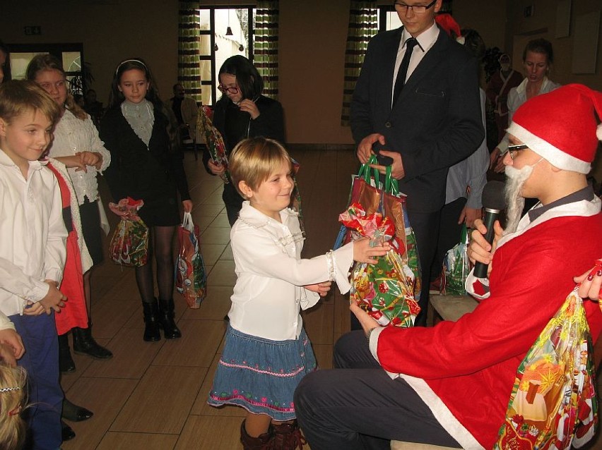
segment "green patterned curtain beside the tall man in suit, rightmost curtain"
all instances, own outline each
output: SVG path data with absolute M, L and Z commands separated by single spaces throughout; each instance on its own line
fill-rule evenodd
M 341 125 L 349 125 L 349 109 L 355 83 L 360 76 L 368 41 L 377 34 L 378 8 L 375 0 L 351 0 L 349 8 L 349 28 L 345 51 L 345 84 L 343 87 L 343 108 Z

